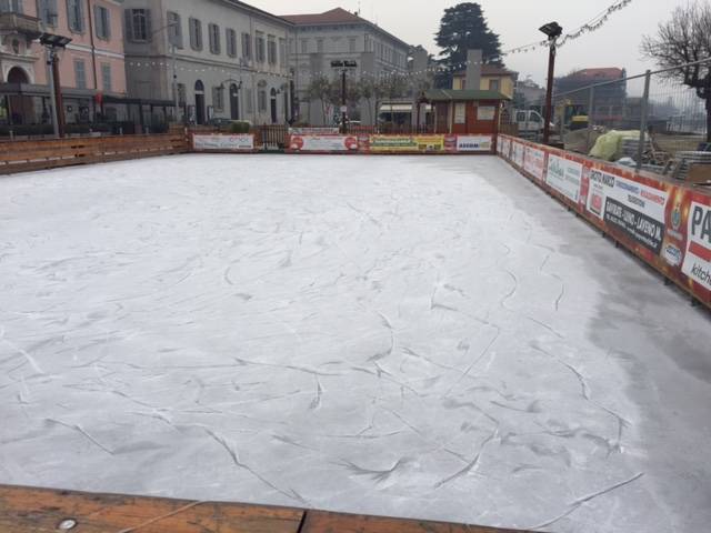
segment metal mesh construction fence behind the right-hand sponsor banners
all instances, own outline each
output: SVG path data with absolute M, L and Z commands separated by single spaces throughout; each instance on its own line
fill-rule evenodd
M 683 167 L 684 158 L 699 159 L 700 152 L 711 151 L 707 104 L 680 76 L 681 68 L 697 64 L 707 70 L 711 60 L 598 83 L 580 82 L 581 87 L 554 93 L 551 143 L 585 154 L 592 151 L 597 157 L 603 153 L 603 159 L 660 173 Z M 545 110 L 540 103 L 510 110 L 502 130 L 542 141 Z M 599 143 L 612 130 L 625 132 L 618 135 L 614 150 L 608 142 L 610 135 Z M 600 148 L 603 142 L 608 142 L 604 150 Z

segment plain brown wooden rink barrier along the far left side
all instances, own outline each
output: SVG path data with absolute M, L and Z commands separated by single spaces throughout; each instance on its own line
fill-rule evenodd
M 0 174 L 189 152 L 182 132 L 0 143 Z

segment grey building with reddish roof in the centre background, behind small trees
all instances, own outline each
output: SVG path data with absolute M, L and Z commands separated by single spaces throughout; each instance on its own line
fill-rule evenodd
M 312 82 L 334 80 L 341 71 L 333 61 L 354 61 L 348 82 L 382 80 L 389 74 L 408 72 L 412 48 L 379 26 L 336 8 L 323 13 L 287 14 L 282 19 L 293 24 L 288 50 L 294 72 L 298 99 L 298 120 L 311 124 L 332 123 L 340 111 L 340 102 L 323 102 L 313 93 Z M 338 99 L 336 99 L 338 100 Z M 348 103 L 348 114 L 363 123 L 374 123 L 379 103 L 374 98 L 360 98 Z

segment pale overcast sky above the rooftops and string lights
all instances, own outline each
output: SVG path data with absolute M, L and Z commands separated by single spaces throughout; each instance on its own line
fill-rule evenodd
M 322 12 L 336 7 L 349 11 L 361 7 L 361 16 L 411 44 L 422 44 L 439 52 L 434 33 L 445 8 L 460 3 L 445 0 L 247 0 L 276 14 Z M 558 56 L 558 74 L 577 68 L 620 67 L 630 74 L 640 73 L 653 63 L 640 53 L 643 34 L 653 33 L 657 24 L 667 20 L 677 6 L 688 0 L 633 0 L 622 11 L 610 17 L 594 33 L 569 42 Z M 605 10 L 614 0 L 480 0 L 489 27 L 501 36 L 503 50 L 529 44 L 543 37 L 538 28 L 557 20 L 565 30 L 579 28 Z M 544 38 L 544 37 L 543 37 Z M 505 63 L 542 83 L 548 56 L 544 50 L 508 56 Z

